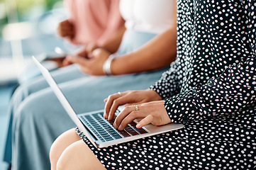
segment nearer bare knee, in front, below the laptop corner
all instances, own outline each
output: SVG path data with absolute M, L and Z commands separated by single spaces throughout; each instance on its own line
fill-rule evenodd
M 104 166 L 99 162 L 91 149 L 80 140 L 69 145 L 57 162 L 58 170 L 69 170 L 69 169 L 105 169 Z M 106 170 L 106 169 L 105 169 Z

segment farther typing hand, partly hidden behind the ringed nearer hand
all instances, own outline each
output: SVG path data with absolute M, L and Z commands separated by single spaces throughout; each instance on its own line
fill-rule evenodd
M 152 90 L 125 91 L 123 93 L 112 94 L 104 100 L 106 102 L 104 118 L 112 120 L 118 106 L 127 104 L 126 107 L 128 107 L 135 104 L 138 105 L 140 103 L 160 100 L 162 100 L 162 98 L 159 94 Z

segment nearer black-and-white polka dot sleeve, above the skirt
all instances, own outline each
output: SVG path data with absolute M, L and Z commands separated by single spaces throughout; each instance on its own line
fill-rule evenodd
M 237 113 L 256 106 L 255 56 L 230 66 L 218 79 L 165 100 L 172 122 L 189 123 L 223 113 Z

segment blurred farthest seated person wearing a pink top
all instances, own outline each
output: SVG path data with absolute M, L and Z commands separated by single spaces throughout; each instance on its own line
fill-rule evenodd
M 69 13 L 69 19 L 59 23 L 57 33 L 60 37 L 69 40 L 72 48 L 81 45 L 87 47 L 90 52 L 98 46 L 104 45 L 123 28 L 123 18 L 118 10 L 119 0 L 91 1 L 91 0 L 65 0 L 65 7 Z M 53 47 L 54 48 L 54 47 Z M 66 53 L 66 52 L 65 52 Z M 42 54 L 38 60 L 49 70 L 66 66 L 63 52 L 58 54 Z M 18 75 L 18 83 L 35 79 L 40 75 L 33 61 L 26 63 Z

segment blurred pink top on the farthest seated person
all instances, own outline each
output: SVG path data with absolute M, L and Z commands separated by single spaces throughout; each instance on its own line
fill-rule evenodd
M 65 0 L 69 21 L 74 24 L 74 44 L 101 45 L 123 26 L 119 0 Z

